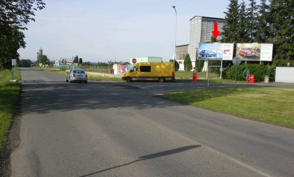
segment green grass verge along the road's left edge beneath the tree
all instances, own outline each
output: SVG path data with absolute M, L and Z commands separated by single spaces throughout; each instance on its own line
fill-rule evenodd
M 0 148 L 7 141 L 11 118 L 19 98 L 20 82 L 11 82 L 11 71 L 0 71 Z M 14 79 L 20 80 L 19 69 L 14 71 Z

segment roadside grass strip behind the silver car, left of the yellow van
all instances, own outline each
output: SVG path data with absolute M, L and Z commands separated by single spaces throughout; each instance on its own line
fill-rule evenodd
M 47 72 L 59 74 L 64 77 L 67 72 L 67 71 L 56 71 L 55 69 L 43 68 L 43 67 L 34 67 L 34 68 L 37 68 L 41 71 L 47 71 Z M 105 76 L 96 76 L 96 75 L 88 74 L 88 81 L 123 81 L 123 80 L 121 79 L 121 77 L 105 77 Z

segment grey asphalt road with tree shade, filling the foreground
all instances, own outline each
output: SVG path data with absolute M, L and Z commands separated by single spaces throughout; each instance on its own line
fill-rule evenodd
M 294 130 L 150 96 L 182 83 L 70 84 L 32 68 L 21 78 L 11 176 L 294 175 Z

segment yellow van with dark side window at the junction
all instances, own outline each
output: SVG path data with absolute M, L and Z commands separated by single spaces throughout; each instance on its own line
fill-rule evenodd
M 132 69 L 121 75 L 121 79 L 131 81 L 174 80 L 173 62 L 146 62 L 134 64 Z

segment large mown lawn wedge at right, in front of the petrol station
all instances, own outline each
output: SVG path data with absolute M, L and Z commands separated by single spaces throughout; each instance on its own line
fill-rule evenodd
M 226 87 L 166 93 L 163 98 L 294 128 L 294 88 Z

